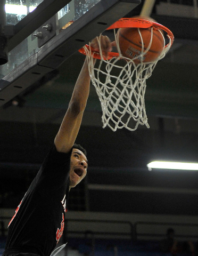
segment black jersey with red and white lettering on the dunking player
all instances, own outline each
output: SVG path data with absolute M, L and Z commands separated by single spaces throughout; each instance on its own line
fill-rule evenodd
M 48 153 L 9 223 L 4 254 L 48 256 L 59 242 L 69 194 L 71 151 L 59 153 L 53 146 Z

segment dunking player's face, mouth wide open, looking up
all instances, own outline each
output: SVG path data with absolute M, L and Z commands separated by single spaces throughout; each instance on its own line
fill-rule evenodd
M 79 149 L 73 148 L 70 163 L 70 188 L 75 187 L 87 174 L 87 157 Z

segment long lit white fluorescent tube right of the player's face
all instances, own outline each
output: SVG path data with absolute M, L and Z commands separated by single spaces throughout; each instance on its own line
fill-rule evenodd
M 174 169 L 174 170 L 193 170 L 198 171 L 198 163 L 180 163 L 180 162 L 163 162 L 154 161 L 147 164 L 147 167 L 151 171 L 156 169 Z

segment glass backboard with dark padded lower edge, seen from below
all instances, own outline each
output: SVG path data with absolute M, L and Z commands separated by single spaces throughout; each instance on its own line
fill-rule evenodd
M 0 106 L 58 68 L 141 0 L 6 0 L 9 61 L 0 66 Z M 70 25 L 70 26 L 69 26 Z

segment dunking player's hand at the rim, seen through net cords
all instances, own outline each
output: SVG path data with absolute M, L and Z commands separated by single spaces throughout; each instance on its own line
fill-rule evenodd
M 94 38 L 92 40 L 92 42 L 90 42 L 90 46 L 92 46 L 96 52 L 100 51 L 98 41 L 100 42 L 103 56 L 105 58 L 108 58 L 109 52 L 112 51 L 112 47 L 114 46 L 114 42 L 111 42 L 108 36 L 101 35 L 101 36 Z

